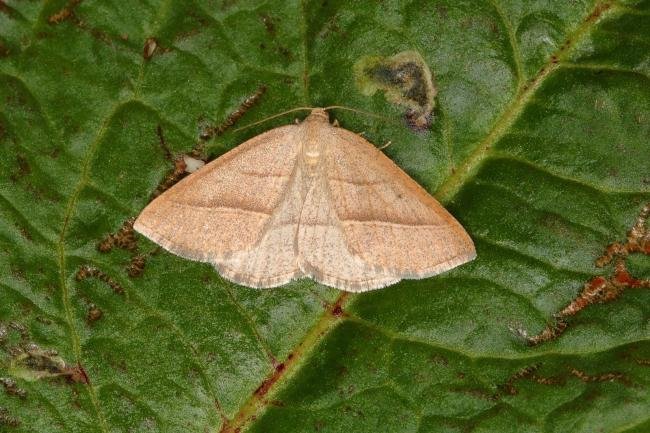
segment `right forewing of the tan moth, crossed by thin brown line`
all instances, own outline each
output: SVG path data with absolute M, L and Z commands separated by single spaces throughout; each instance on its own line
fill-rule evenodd
M 332 128 L 325 172 L 353 254 L 398 279 L 439 274 L 476 257 L 465 229 L 364 138 Z

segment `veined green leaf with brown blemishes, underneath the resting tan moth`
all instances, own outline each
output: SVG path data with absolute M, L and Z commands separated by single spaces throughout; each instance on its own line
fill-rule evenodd
M 361 58 L 403 51 L 438 89 L 426 133 L 355 84 Z M 650 291 L 534 348 L 510 330 L 612 274 L 596 258 L 650 201 L 649 84 L 648 1 L 0 2 L 0 430 L 649 431 Z M 333 113 L 392 141 L 478 258 L 347 296 L 165 252 L 131 278 L 130 252 L 99 252 L 172 169 L 157 128 L 188 152 L 260 85 L 241 125 L 333 104 L 397 120 Z M 628 267 L 650 277 L 643 254 Z

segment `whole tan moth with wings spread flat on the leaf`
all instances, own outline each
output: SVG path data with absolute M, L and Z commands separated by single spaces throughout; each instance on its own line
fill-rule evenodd
M 449 212 L 372 143 L 331 124 L 322 108 L 186 177 L 133 227 L 256 288 L 309 277 L 362 292 L 476 257 Z

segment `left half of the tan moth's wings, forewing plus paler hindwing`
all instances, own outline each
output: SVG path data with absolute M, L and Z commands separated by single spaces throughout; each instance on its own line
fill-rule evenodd
M 302 207 L 297 131 L 272 129 L 207 164 L 151 202 L 134 228 L 237 283 L 290 281 L 300 273 L 293 242 Z

